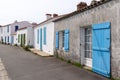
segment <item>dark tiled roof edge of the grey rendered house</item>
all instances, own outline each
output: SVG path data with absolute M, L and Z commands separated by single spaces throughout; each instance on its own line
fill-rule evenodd
M 80 9 L 80 10 L 77 10 L 77 11 L 74 11 L 74 12 L 72 12 L 72 13 L 69 13 L 69 14 L 66 15 L 66 16 L 63 16 L 63 17 L 61 17 L 61 18 L 59 18 L 59 19 L 54 20 L 54 22 L 60 21 L 60 20 L 62 20 L 62 19 L 65 19 L 65 18 L 68 18 L 68 17 L 71 17 L 71 16 L 74 16 L 74 15 L 76 15 L 76 14 L 82 13 L 82 12 L 87 11 L 87 10 L 90 10 L 90 9 L 92 9 L 92 8 L 95 8 L 95 7 L 97 7 L 97 6 L 100 6 L 100 5 L 102 5 L 102 4 L 105 4 L 105 3 L 109 2 L 109 1 L 113 1 L 113 0 L 101 0 L 101 1 L 97 1 L 95 4 L 86 6 L 86 7 L 82 8 L 82 9 Z

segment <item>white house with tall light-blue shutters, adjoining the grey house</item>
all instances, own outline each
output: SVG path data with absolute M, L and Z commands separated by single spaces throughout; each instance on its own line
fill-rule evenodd
M 54 54 L 54 20 L 60 18 L 57 14 L 46 14 L 47 20 L 34 27 L 34 47 L 43 52 Z

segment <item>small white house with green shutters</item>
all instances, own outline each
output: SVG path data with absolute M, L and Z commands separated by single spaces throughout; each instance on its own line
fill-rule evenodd
M 33 27 L 23 27 L 17 31 L 17 45 L 34 46 L 34 32 Z

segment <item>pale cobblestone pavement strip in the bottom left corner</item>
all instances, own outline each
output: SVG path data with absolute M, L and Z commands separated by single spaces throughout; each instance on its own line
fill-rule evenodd
M 1 58 L 0 58 L 0 80 L 10 80 Z

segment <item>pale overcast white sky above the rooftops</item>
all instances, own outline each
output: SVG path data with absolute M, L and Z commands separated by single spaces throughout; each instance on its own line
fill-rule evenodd
M 81 1 L 90 4 L 91 0 L 0 0 L 0 25 L 17 21 L 40 23 L 46 20 L 45 14 L 59 15 L 75 11 Z

